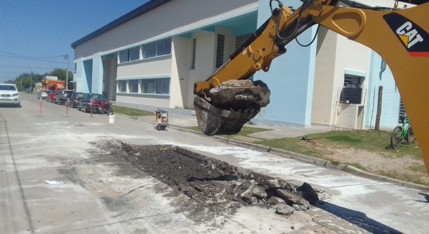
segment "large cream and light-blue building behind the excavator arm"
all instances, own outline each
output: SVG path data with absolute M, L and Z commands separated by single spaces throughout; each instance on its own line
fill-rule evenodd
M 393 7 L 389 0 L 361 2 Z M 297 8 L 302 2 L 287 4 Z M 130 106 L 193 109 L 194 83 L 221 66 L 270 16 L 264 0 L 151 0 L 72 43 L 76 91 L 104 93 Z M 254 74 L 272 94 L 252 122 L 373 126 L 373 87 L 389 86 L 395 92 L 391 72 L 387 68 L 380 81 L 379 55 L 323 27 L 315 35 L 316 28 L 298 37 L 305 44 L 316 36 L 310 46 L 293 41 L 268 72 Z M 391 109 L 382 121 L 386 128 L 398 122 L 399 93 L 393 96 L 397 102 L 384 104 Z

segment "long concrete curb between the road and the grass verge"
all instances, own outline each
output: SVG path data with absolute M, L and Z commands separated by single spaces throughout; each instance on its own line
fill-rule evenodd
M 130 118 L 130 119 L 135 119 L 135 120 L 142 120 L 144 122 L 152 123 L 152 124 L 155 122 L 155 121 L 151 121 L 151 120 L 147 120 L 147 119 L 143 119 L 143 118 L 132 117 L 132 116 L 123 115 L 123 114 L 116 114 L 116 115 L 124 116 L 124 117 Z M 361 174 L 361 175 L 364 175 L 364 176 L 369 176 L 369 177 L 377 178 L 379 180 L 383 180 L 383 181 L 387 181 L 387 182 L 392 182 L 392 183 L 395 183 L 395 184 L 405 185 L 405 186 L 408 186 L 408 187 L 413 187 L 413 188 L 422 189 L 422 190 L 428 190 L 429 189 L 429 186 L 426 186 L 426 185 L 414 184 L 414 183 L 411 183 L 411 182 L 401 181 L 401 180 L 389 178 L 389 177 L 386 177 L 386 176 L 376 175 L 376 174 L 373 174 L 373 173 L 370 173 L 370 172 L 366 172 L 366 171 L 360 170 L 360 169 L 355 168 L 353 166 L 347 166 L 345 164 L 335 164 L 335 163 L 333 163 L 331 161 L 328 161 L 328 160 L 313 158 L 313 157 L 308 156 L 308 155 L 299 154 L 299 153 L 295 153 L 295 152 L 291 152 L 291 151 L 287 151 L 287 150 L 283 150 L 283 149 L 272 148 L 272 147 L 263 146 L 263 145 L 259 145 L 259 144 L 253 144 L 253 143 L 250 143 L 250 142 L 244 142 L 244 141 L 240 141 L 240 140 L 228 139 L 228 138 L 221 137 L 221 136 L 207 136 L 207 135 L 205 135 L 202 132 L 197 132 L 197 131 L 194 131 L 194 130 L 182 128 L 180 126 L 170 125 L 169 128 L 172 128 L 172 129 L 178 130 L 178 131 L 182 131 L 182 132 L 188 132 L 188 133 L 192 133 L 192 134 L 197 134 L 197 135 L 204 136 L 204 137 L 210 137 L 210 138 L 222 141 L 222 142 L 226 142 L 226 143 L 230 143 L 230 144 L 234 144 L 234 145 L 240 145 L 240 146 L 243 146 L 243 147 L 247 147 L 247 148 L 251 148 L 251 149 L 255 149 L 255 150 L 259 150 L 259 151 L 271 152 L 271 153 L 274 153 L 274 154 L 278 154 L 278 155 L 280 155 L 282 157 L 289 157 L 289 158 L 297 159 L 297 160 L 304 161 L 304 162 L 307 162 L 307 163 L 313 163 L 313 164 L 320 165 L 320 166 L 337 168 L 337 169 L 340 169 L 340 170 L 343 170 L 343 171 L 347 171 L 347 172 L 350 172 L 350 173 Z

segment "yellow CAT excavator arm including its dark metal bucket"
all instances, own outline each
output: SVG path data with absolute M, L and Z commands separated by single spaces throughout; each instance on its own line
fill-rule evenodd
M 397 1 L 393 8 L 383 8 L 346 0 L 341 2 L 352 7 L 339 7 L 339 1 L 305 0 L 292 11 L 280 1 L 274 2 L 279 8 L 272 9 L 271 18 L 206 81 L 195 83 L 194 105 L 203 132 L 208 135 L 236 133 L 261 107 L 247 105 L 229 110 L 231 103 L 213 104 L 214 99 L 219 99 L 211 92 L 213 88 L 229 80 L 246 80 L 260 69 L 269 70 L 271 61 L 286 52 L 285 45 L 319 24 L 371 48 L 389 65 L 429 172 L 429 108 L 425 106 L 429 103 L 429 95 L 426 95 L 429 88 L 429 17 L 426 15 L 429 3 L 398 9 Z M 240 119 L 242 121 L 238 121 Z

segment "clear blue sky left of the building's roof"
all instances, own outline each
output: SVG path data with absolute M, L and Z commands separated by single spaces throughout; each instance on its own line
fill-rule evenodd
M 146 2 L 0 0 L 0 83 L 22 72 L 44 74 L 57 67 L 65 69 L 66 59 L 61 55 L 66 54 L 72 70 L 73 42 Z

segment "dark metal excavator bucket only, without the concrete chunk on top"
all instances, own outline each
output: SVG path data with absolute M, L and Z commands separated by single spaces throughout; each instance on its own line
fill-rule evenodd
M 228 111 L 212 106 L 200 97 L 195 97 L 194 107 L 199 128 L 209 136 L 237 134 L 260 111 L 260 108 Z

